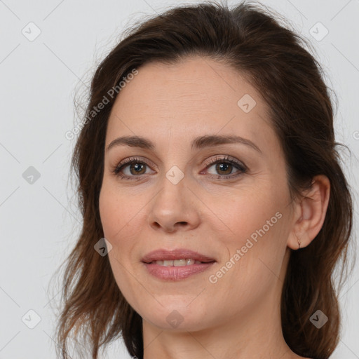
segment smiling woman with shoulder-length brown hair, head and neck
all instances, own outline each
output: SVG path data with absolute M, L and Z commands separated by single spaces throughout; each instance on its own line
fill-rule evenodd
M 174 8 L 97 68 L 76 142 L 83 229 L 57 338 L 92 358 L 329 358 L 352 203 L 303 40 L 259 6 Z M 104 239 L 106 238 L 106 239 Z

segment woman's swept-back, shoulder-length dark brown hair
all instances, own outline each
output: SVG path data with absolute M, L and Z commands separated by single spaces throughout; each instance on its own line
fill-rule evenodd
M 285 156 L 292 198 L 311 187 L 314 176 L 330 179 L 323 226 L 310 245 L 290 252 L 280 302 L 283 336 L 292 351 L 315 359 L 329 358 L 341 329 L 334 269 L 341 262 L 342 285 L 348 274 L 353 203 L 337 150 L 341 144 L 334 140 L 325 74 L 306 50 L 306 39 L 280 25 L 266 6 L 248 2 L 233 8 L 215 2 L 178 6 L 135 24 L 125 34 L 95 70 L 84 115 L 87 119 L 72 156 L 83 226 L 63 263 L 57 354 L 61 351 L 61 358 L 68 358 L 67 341 L 74 332 L 74 338 L 88 340 L 93 359 L 98 358 L 102 346 L 119 337 L 130 355 L 143 358 L 142 318 L 116 285 L 108 256 L 94 250 L 104 237 L 99 195 L 107 122 L 117 97 L 109 96 L 109 90 L 146 63 L 176 64 L 201 56 L 238 70 L 264 98 Z M 93 108 L 104 97 L 109 103 L 94 115 Z M 330 318 L 320 330 L 309 320 L 318 309 Z

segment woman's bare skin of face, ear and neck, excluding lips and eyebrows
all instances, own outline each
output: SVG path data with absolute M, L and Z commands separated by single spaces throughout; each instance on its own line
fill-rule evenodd
M 237 104 L 245 94 L 256 102 L 248 113 Z M 298 239 L 301 248 L 309 245 L 323 225 L 330 183 L 316 177 L 306 192 L 311 200 L 291 203 L 283 151 L 266 106 L 235 69 L 203 57 L 144 65 L 116 98 L 106 148 L 123 135 L 155 144 L 151 150 L 118 145 L 106 151 L 100 192 L 114 278 L 143 318 L 144 359 L 302 358 L 283 339 L 280 293 L 290 250 L 297 250 Z M 203 135 L 238 135 L 260 152 L 245 144 L 191 149 L 191 140 Z M 208 164 L 226 155 L 248 170 Z M 135 179 L 111 172 L 132 156 L 149 161 L 140 175 L 130 165 L 123 168 Z M 177 184 L 165 176 L 174 165 L 184 174 Z M 218 178 L 228 173 L 240 175 Z M 210 283 L 210 275 L 276 212 L 282 215 L 276 224 Z M 163 281 L 141 262 L 158 248 L 189 248 L 217 262 L 184 280 Z M 177 327 L 166 320 L 174 310 L 183 319 Z

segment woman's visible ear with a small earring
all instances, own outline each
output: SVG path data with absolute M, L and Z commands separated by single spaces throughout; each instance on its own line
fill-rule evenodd
M 330 197 L 330 181 L 325 175 L 313 177 L 311 188 L 295 203 L 293 227 L 287 245 L 293 250 L 304 248 L 316 238 L 323 226 Z

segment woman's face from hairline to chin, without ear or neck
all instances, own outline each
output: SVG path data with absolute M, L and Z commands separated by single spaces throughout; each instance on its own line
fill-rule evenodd
M 293 216 L 266 113 L 236 70 L 203 57 L 144 65 L 119 93 L 100 216 L 116 283 L 147 325 L 194 331 L 279 310 Z M 145 264 L 154 250 L 212 262 Z

